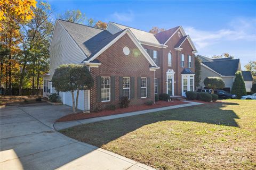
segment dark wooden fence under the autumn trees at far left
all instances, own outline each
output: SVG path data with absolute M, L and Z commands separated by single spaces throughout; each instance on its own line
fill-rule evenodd
M 9 95 L 9 89 L 0 88 L 0 95 Z M 12 89 L 12 94 L 19 96 L 19 89 Z M 32 96 L 33 89 L 21 89 L 21 96 Z M 43 89 L 34 89 L 34 95 L 43 95 Z

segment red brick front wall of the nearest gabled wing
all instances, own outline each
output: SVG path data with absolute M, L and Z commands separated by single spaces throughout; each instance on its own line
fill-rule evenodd
M 130 54 L 123 53 L 123 47 L 130 49 Z M 150 63 L 135 46 L 130 37 L 126 34 L 116 41 L 112 46 L 97 57 L 101 65 L 98 68 L 91 67 L 90 72 L 94 78 L 94 87 L 90 90 L 90 108 L 106 108 L 107 105 L 119 104 L 119 77 L 134 77 L 134 98 L 131 98 L 130 105 L 141 105 L 146 101 L 154 101 L 154 71 L 149 71 Z M 115 77 L 115 100 L 101 102 L 97 99 L 97 77 Z M 137 94 L 137 78 L 150 78 L 150 97 L 140 98 Z

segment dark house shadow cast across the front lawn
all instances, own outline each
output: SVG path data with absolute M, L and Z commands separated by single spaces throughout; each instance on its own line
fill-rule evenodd
M 60 132 L 76 140 L 100 147 L 122 137 L 126 133 L 156 122 L 187 121 L 239 127 L 235 121 L 235 118 L 239 118 L 236 113 L 232 110 L 221 109 L 226 105 L 233 105 L 233 103 L 205 104 L 117 118 L 114 120 L 79 125 L 61 130 Z

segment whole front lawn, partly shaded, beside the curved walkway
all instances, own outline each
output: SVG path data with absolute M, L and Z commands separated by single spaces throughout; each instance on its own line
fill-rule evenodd
M 256 169 L 255 106 L 222 100 L 60 132 L 157 169 Z

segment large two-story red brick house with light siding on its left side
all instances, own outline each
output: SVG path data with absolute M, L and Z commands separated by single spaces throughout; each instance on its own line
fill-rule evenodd
M 83 111 L 153 100 L 154 94 L 185 95 L 194 91 L 196 48 L 181 26 L 152 33 L 109 22 L 106 30 L 57 20 L 50 43 L 50 74 L 44 77 L 44 96 L 55 92 L 51 78 L 61 64 L 85 64 L 94 78 L 91 90 L 79 93 Z M 60 92 L 72 105 L 70 92 Z

